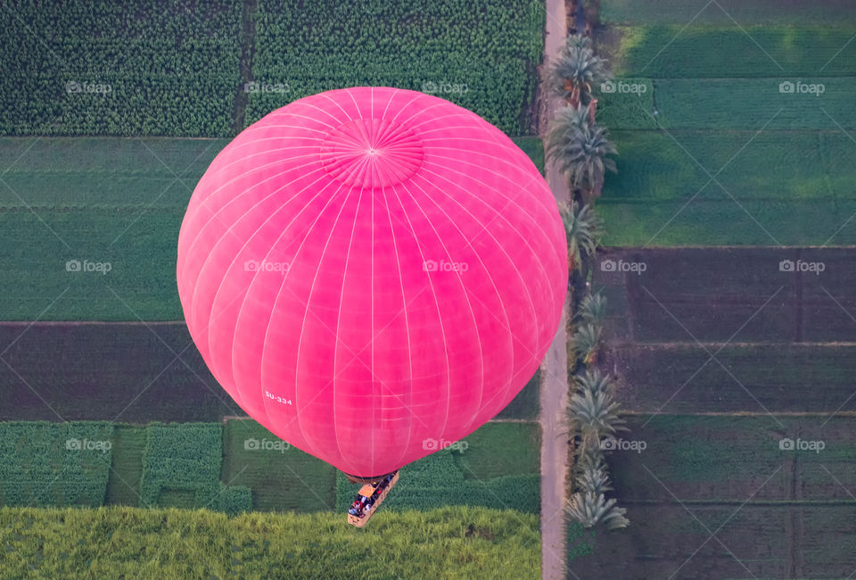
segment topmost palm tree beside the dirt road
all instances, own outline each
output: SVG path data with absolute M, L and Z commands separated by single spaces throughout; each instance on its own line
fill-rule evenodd
M 580 104 L 588 106 L 592 84 L 609 78 L 606 61 L 595 55 L 588 38 L 576 34 L 567 38 L 548 74 L 553 92 L 574 108 Z

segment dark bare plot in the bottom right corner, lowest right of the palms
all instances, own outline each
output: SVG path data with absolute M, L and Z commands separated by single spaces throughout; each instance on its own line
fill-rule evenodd
M 811 508 L 630 505 L 628 516 L 630 527 L 602 541 L 598 535 L 593 553 L 572 561 L 575 576 L 843 578 L 856 566 L 856 502 Z

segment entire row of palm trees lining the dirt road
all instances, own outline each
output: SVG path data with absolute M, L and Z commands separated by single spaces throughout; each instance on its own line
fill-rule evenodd
M 604 456 L 605 437 L 622 430 L 614 382 L 594 365 L 600 344 L 606 300 L 588 287 L 590 261 L 597 252 L 603 227 L 593 204 L 600 195 L 607 170 L 615 171 L 617 154 L 605 128 L 597 125 L 594 87 L 609 79 L 603 59 L 594 54 L 589 37 L 571 35 L 549 70 L 551 91 L 564 100 L 547 135 L 547 155 L 568 177 L 570 204 L 560 210 L 568 237 L 568 267 L 572 280 L 573 332 L 569 341 L 574 392 L 569 414 L 574 427 L 574 489 L 569 516 L 585 527 L 608 529 L 628 526 L 626 510 L 614 499 Z

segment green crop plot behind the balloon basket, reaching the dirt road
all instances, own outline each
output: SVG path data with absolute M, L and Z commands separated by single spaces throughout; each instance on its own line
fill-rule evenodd
M 537 513 L 540 509 L 538 435 L 535 425 L 489 423 L 452 448 L 434 452 L 402 468 L 399 483 L 383 501 L 383 510 L 473 505 Z M 471 449 L 472 460 L 467 456 Z M 338 474 L 336 510 L 347 510 L 358 489 L 359 485 L 350 484 L 345 476 Z

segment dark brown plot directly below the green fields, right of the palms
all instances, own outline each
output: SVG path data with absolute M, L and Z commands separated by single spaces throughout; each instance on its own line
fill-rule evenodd
M 617 341 L 852 342 L 851 263 L 850 248 L 613 249 L 594 285 Z

